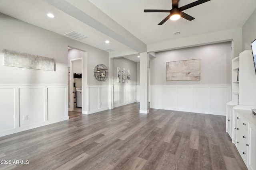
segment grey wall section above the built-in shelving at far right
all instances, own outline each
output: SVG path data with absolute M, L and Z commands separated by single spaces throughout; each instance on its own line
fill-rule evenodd
M 250 18 L 244 23 L 242 28 L 243 35 L 243 51 L 251 50 L 251 42 L 256 39 L 256 10 L 252 13 Z

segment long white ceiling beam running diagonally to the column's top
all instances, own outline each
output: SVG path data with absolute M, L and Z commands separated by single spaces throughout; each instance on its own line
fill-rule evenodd
M 89 25 L 90 27 L 104 33 L 105 35 L 115 39 L 116 41 L 119 41 L 127 47 L 138 51 L 138 53 L 147 51 L 145 43 L 140 41 L 129 31 L 124 29 L 124 27 L 122 27 L 110 17 L 108 17 L 106 14 L 104 14 L 88 0 L 83 1 L 83 3 L 86 3 L 83 7 L 87 8 L 83 10 L 78 9 L 76 6 L 70 4 L 66 0 L 44 0 L 44 2 Z M 95 12 L 98 14 L 97 16 L 95 15 Z M 102 20 L 102 22 L 100 20 Z

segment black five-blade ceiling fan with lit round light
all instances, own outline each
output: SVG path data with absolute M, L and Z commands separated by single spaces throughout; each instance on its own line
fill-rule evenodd
M 182 12 L 188 8 L 192 8 L 194 6 L 200 5 L 204 2 L 208 2 L 210 0 L 198 0 L 195 2 L 192 2 L 188 5 L 182 6 L 179 8 L 179 0 L 172 0 L 172 9 L 171 10 L 144 10 L 144 12 L 169 12 L 170 14 L 164 18 L 158 25 L 162 25 L 165 23 L 168 19 L 170 20 L 178 20 L 180 17 L 185 18 L 186 20 L 192 21 L 195 18 Z

